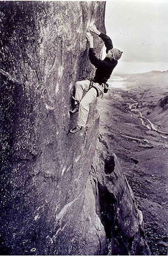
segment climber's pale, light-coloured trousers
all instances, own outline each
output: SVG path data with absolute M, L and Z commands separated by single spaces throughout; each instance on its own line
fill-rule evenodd
M 75 83 L 75 99 L 79 103 L 79 113 L 77 125 L 85 126 L 89 114 L 89 104 L 92 103 L 97 97 L 97 91 L 94 88 L 89 90 L 90 80 L 78 81 Z M 99 95 L 102 93 L 102 87 L 99 83 L 93 83 L 98 89 Z M 89 91 L 88 91 L 89 90 Z M 83 92 L 87 92 L 82 98 Z M 77 102 L 76 102 L 77 103 Z

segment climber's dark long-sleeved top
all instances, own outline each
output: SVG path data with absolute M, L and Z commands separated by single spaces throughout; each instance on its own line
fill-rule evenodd
M 104 45 L 106 47 L 106 53 L 108 50 L 113 48 L 113 43 L 109 36 L 101 33 L 99 35 L 104 41 Z M 96 56 L 95 49 L 90 48 L 89 49 L 89 59 L 91 63 L 97 68 L 94 81 L 98 83 L 106 82 L 109 78 L 111 73 L 113 72 L 114 68 L 116 67 L 118 61 L 115 59 L 110 59 L 108 57 L 105 57 L 105 59 L 100 59 Z

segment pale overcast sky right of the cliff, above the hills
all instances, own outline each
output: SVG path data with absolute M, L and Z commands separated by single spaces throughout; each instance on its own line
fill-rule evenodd
M 107 0 L 105 27 L 123 51 L 117 73 L 168 70 L 168 0 Z

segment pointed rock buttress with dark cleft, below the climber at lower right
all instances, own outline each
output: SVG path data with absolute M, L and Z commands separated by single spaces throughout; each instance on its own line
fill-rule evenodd
M 108 255 L 149 255 L 143 215 L 110 144 L 99 137 L 90 177 L 97 187 L 99 217 Z M 96 177 L 96 179 L 95 179 Z

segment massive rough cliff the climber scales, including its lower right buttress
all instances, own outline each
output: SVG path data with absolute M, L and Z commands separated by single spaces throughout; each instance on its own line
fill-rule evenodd
M 105 2 L 0 6 L 1 253 L 149 254 L 119 163 L 97 144 L 95 104 L 69 133 L 74 83 L 94 72 L 85 35 L 91 22 L 105 32 Z

